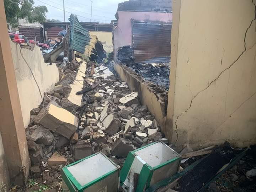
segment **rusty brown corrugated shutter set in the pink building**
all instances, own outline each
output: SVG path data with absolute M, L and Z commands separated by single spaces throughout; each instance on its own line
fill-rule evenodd
M 135 63 L 167 63 L 171 55 L 171 24 L 133 23 Z

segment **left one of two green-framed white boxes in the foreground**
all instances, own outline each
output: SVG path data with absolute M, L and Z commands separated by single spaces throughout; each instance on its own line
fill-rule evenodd
M 119 167 L 103 153 L 95 153 L 62 169 L 63 191 L 118 192 Z

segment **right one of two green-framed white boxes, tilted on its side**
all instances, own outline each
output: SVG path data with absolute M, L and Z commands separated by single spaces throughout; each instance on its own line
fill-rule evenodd
M 130 151 L 120 172 L 120 184 L 129 191 L 130 173 L 139 174 L 136 192 L 178 172 L 181 156 L 166 144 L 158 141 Z

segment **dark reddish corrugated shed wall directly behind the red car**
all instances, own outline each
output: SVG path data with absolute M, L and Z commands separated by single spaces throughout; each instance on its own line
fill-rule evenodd
M 31 40 L 41 41 L 43 39 L 43 28 L 33 26 L 19 26 L 19 33 L 24 34 L 25 37 Z

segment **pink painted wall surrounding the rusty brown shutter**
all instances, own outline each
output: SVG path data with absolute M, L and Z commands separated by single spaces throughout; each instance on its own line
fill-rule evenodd
M 172 13 L 118 11 L 117 27 L 114 29 L 114 60 L 118 47 L 132 45 L 131 19 L 143 22 L 171 22 Z

